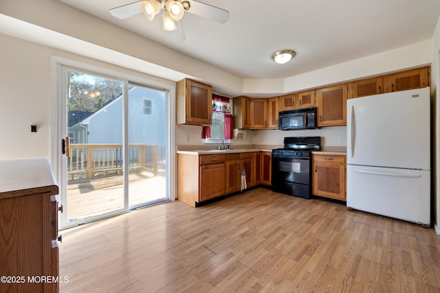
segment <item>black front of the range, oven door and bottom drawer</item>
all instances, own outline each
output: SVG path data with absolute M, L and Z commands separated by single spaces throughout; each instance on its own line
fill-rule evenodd
M 311 198 L 310 159 L 272 154 L 272 189 L 282 194 Z

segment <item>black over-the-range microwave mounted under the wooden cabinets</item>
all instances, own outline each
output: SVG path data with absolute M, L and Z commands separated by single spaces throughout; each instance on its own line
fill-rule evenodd
M 316 128 L 316 107 L 281 111 L 278 128 L 281 130 Z

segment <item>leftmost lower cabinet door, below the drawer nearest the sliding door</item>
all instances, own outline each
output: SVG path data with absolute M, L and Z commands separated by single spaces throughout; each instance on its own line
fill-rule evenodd
M 200 166 L 199 201 L 209 200 L 225 194 L 225 164 Z

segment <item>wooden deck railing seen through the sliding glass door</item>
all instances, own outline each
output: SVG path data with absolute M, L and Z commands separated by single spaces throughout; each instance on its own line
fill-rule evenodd
M 129 172 L 149 170 L 157 176 L 159 146 L 130 144 Z M 67 158 L 69 180 L 122 174 L 122 144 L 70 144 Z

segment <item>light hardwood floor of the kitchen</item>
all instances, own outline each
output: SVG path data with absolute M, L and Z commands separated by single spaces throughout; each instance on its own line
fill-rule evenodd
M 61 292 L 440 292 L 433 228 L 266 188 L 61 233 Z

